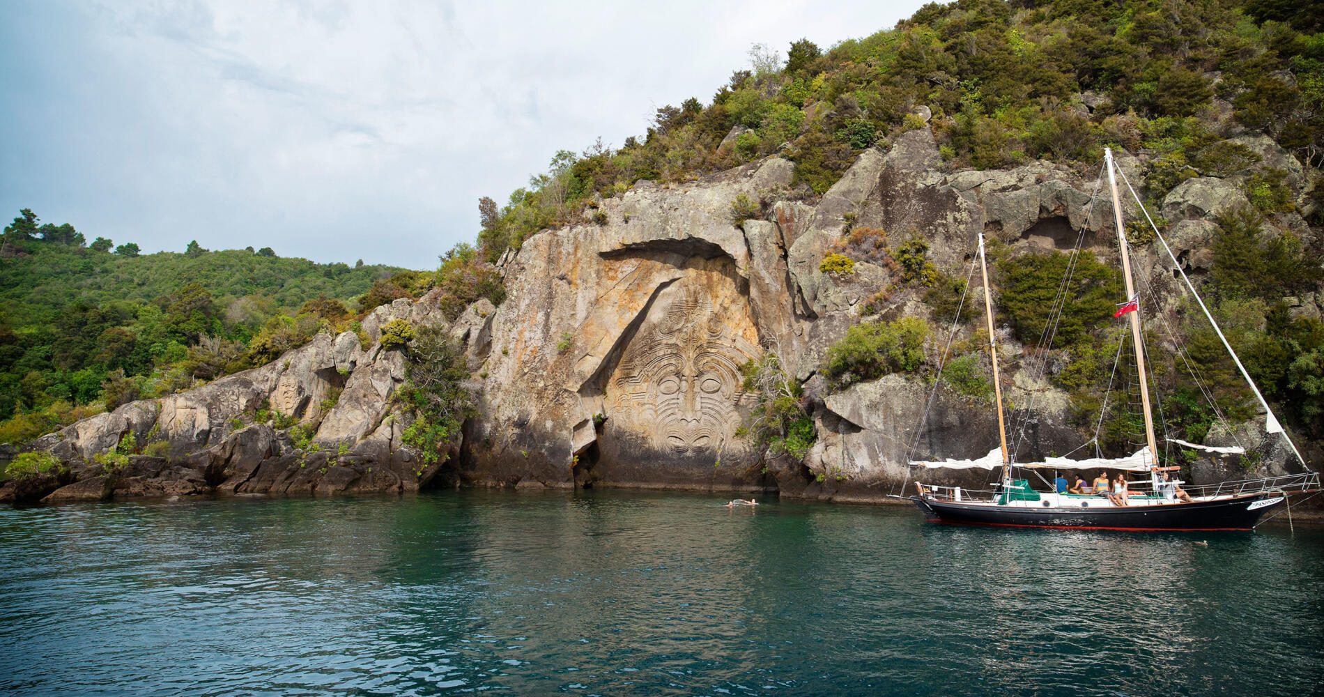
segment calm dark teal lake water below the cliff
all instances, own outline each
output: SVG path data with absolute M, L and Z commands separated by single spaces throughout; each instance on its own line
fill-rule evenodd
M 0 509 L 0 693 L 1320 694 L 1324 529 L 446 492 Z

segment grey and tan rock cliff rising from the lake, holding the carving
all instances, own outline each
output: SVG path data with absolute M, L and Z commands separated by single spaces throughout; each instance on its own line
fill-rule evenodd
M 1295 162 L 1271 140 L 1246 144 Z M 1123 154 L 1119 162 L 1139 186 L 1137 160 Z M 900 374 L 828 391 L 818 375 L 828 347 L 861 322 L 869 298 L 898 281 L 898 272 L 859 262 L 855 273 L 833 276 L 820 264 L 847 225 L 919 236 L 928 258 L 960 277 L 980 232 L 1023 249 L 1068 249 L 1083 227 L 1086 245 L 1107 249 L 1111 208 L 1104 197 L 1090 207 L 1092 176 L 1045 162 L 944 172 L 927 129 L 904 133 L 886 152 L 865 151 L 820 199 L 806 200 L 792 175 L 792 163 L 773 156 L 685 184 L 639 182 L 598 201 L 593 221 L 543 231 L 503 258 L 507 299 L 499 307 L 479 301 L 446 322 L 434 294 L 397 299 L 363 321 L 371 346 L 350 333 L 318 335 L 267 366 L 45 436 L 34 447 L 70 462 L 69 472 L 25 488 L 11 482 L 0 496 L 579 484 L 878 500 L 906 480 L 911 445 L 936 457 L 988 452 L 997 435 L 985 402 Z M 1292 175 L 1290 186 L 1301 195 L 1309 183 L 1300 167 Z M 761 215 L 736 224 L 731 204 L 740 195 L 760 201 Z M 1229 180 L 1198 178 L 1162 201 L 1188 269 L 1207 265 L 1209 219 L 1242 199 Z M 1296 213 L 1286 217 L 1309 233 Z M 1180 297 L 1156 261 L 1144 260 L 1141 273 L 1160 293 Z M 1299 311 L 1320 309 L 1305 298 Z M 929 313 L 914 293 L 902 293 L 880 315 L 949 319 Z M 444 462 L 424 465 L 401 441 L 412 416 L 392 398 L 406 359 L 377 342 L 380 327 L 397 318 L 448 325 L 475 375 L 478 415 Z M 1018 371 L 1019 347 L 1010 337 L 1001 342 L 1019 457 L 1079 445 L 1066 395 Z M 767 457 L 737 433 L 755 403 L 740 366 L 764 350 L 805 380 L 818 439 L 802 462 Z M 283 421 L 254 423 L 266 411 Z M 131 457 L 114 472 L 94 461 L 130 433 L 139 448 L 160 441 L 168 445 L 158 451 L 167 452 Z M 1282 468 L 1280 460 L 1266 466 Z

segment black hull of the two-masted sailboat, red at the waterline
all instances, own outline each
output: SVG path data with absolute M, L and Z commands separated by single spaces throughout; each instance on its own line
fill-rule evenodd
M 1019 508 L 910 497 L 931 519 L 963 525 L 1072 527 L 1082 530 L 1250 530 L 1283 494 L 1120 508 Z

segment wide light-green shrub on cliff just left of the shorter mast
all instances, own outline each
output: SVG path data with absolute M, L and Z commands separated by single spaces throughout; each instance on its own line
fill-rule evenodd
M 890 372 L 910 372 L 924 363 L 928 322 L 903 317 L 895 322 L 865 322 L 828 347 L 824 375 L 837 388 Z

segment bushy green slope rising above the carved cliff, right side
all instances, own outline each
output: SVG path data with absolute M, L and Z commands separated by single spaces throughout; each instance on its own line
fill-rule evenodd
M 1204 182 L 1243 195 L 1247 205 L 1214 221 L 1201 253 L 1201 270 L 1209 273 L 1198 280 L 1268 398 L 1294 425 L 1320 437 L 1324 325 L 1313 298 L 1324 280 L 1321 28 L 1324 4 L 1317 1 L 959 0 L 931 3 L 894 29 L 830 48 L 808 40 L 785 53 L 755 46 L 748 69 L 732 73 L 711 102 L 690 98 L 658 109 L 647 133 L 618 150 L 596 143 L 581 154 L 557 152 L 548 171 L 504 207 L 482 199 L 482 257 L 496 260 L 545 227 L 601 223 L 600 201 L 641 179 L 685 183 L 776 154 L 794 163 L 788 189 L 732 204 L 736 224 L 765 217 L 779 199 L 816 201 L 865 150 L 887 151 L 916 129 L 931 130 L 945 172 L 1043 160 L 1094 179 L 1103 147 L 1111 146 L 1135 156 L 1140 195 L 1156 213 L 1192 179 L 1213 178 Z M 1272 144 L 1251 147 L 1263 136 Z M 1177 221 L 1156 220 L 1168 232 Z M 1148 249 L 1153 236 L 1144 221 L 1131 225 L 1132 241 Z M 849 261 L 924 262 L 925 242 L 904 231 L 851 232 L 847 221 L 838 246 L 829 260 L 841 260 L 835 266 L 825 261 L 824 270 L 849 273 Z M 1062 253 L 1000 254 L 994 284 L 1008 299 L 1000 322 L 1027 346 L 1042 327 L 1027 315 L 1045 309 L 1016 298 L 1051 299 L 1066 268 Z M 914 276 L 878 289 L 876 298 L 908 292 L 935 310 L 951 303 L 951 278 L 939 270 Z M 1096 329 L 1059 335 L 1053 346 L 1061 370 L 1051 382 L 1071 394 L 1072 412 L 1091 431 L 1117 347 L 1098 329 L 1108 314 L 1068 306 L 1064 322 Z M 1177 329 L 1190 358 L 1223 408 L 1249 417 L 1250 392 L 1238 387 L 1217 338 L 1198 315 L 1182 317 Z M 837 355 L 869 358 L 828 364 L 825 374 L 859 375 L 876 363 L 879 337 L 892 334 L 871 323 L 853 330 Z M 1193 387 L 1172 382 L 1173 372 L 1188 368 L 1174 363 L 1169 347 L 1155 350 L 1166 355 L 1160 370 L 1169 378 L 1157 388 L 1169 427 L 1204 437 L 1217 413 Z M 960 360 L 969 366 L 977 356 Z M 924 362 L 903 372 L 935 367 Z M 900 371 L 884 372 L 894 370 Z M 1100 437 L 1120 449 L 1136 428 L 1115 413 Z

